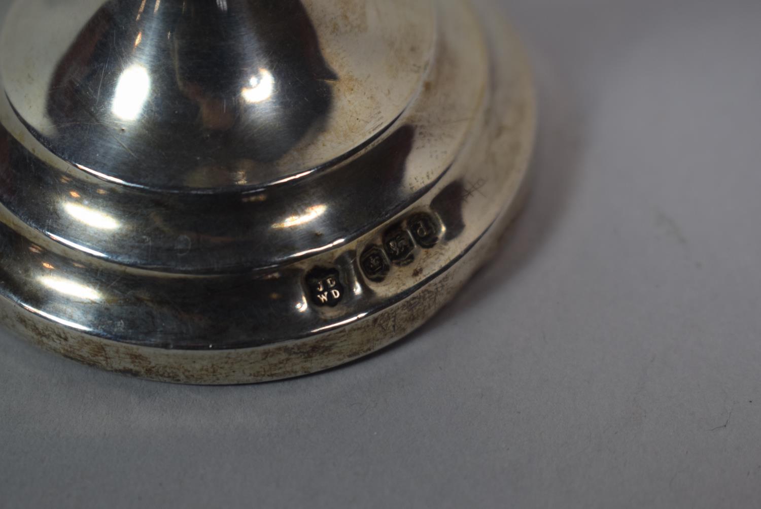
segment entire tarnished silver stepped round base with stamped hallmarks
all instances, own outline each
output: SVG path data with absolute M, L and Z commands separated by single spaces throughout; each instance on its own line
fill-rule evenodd
M 25 0 L 0 85 L 3 323 L 191 383 L 419 326 L 520 205 L 535 122 L 466 0 Z

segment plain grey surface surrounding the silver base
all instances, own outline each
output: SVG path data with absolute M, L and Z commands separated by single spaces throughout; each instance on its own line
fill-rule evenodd
M 181 387 L 0 337 L 4 507 L 759 507 L 761 2 L 509 0 L 527 210 L 365 361 Z

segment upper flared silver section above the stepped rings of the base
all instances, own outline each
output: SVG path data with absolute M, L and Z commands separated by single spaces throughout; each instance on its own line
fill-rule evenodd
M 148 189 L 251 190 L 349 157 L 435 40 L 430 0 L 50 3 L 7 17 L 11 106 L 58 157 Z

